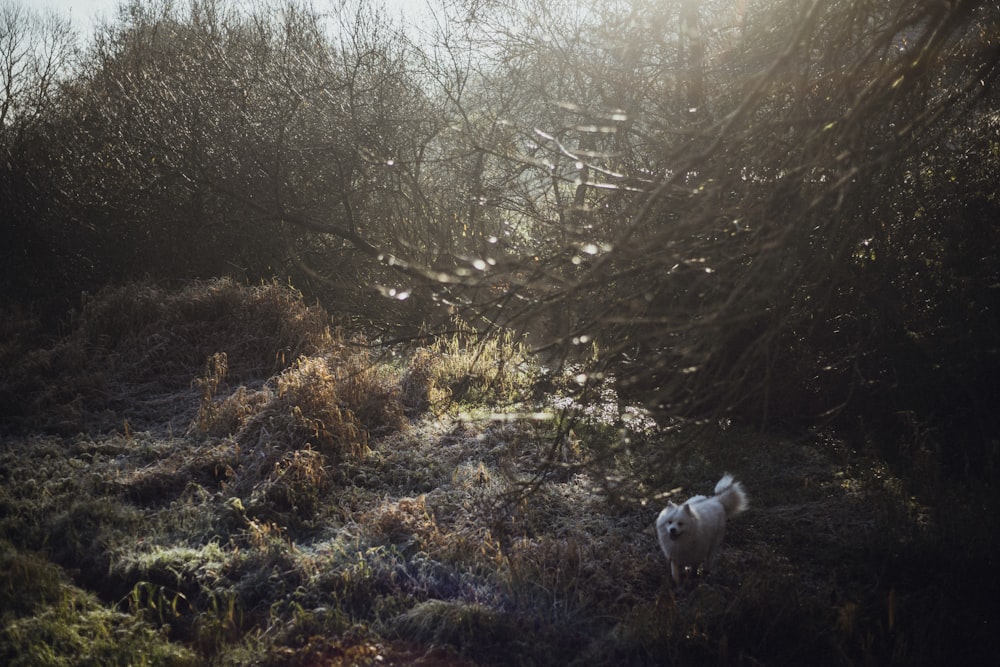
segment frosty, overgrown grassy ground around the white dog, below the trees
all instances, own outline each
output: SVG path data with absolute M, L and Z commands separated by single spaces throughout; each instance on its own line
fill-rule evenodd
M 657 427 L 613 395 L 576 411 L 572 377 L 540 382 L 509 337 L 456 325 L 384 348 L 280 285 L 107 290 L 49 341 L 3 319 L 3 664 L 984 664 L 998 648 L 993 492 L 944 479 L 916 428 L 889 443 L 901 476 L 887 443 Z M 715 570 L 675 588 L 653 520 L 723 471 L 751 509 Z

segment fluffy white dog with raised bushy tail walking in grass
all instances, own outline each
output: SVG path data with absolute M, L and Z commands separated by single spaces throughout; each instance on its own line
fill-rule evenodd
M 660 547 L 670 561 L 670 573 L 679 584 L 681 570 L 701 563 L 711 567 L 722 537 L 726 532 L 726 518 L 747 508 L 743 485 L 726 474 L 715 485 L 711 498 L 694 496 L 683 505 L 670 503 L 656 519 L 656 536 Z

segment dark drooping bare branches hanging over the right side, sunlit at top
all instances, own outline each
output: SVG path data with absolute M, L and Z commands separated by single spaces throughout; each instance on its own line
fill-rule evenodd
M 640 172 L 663 175 L 625 197 L 598 241 L 611 252 L 585 263 L 574 289 L 600 290 L 607 310 L 579 332 L 617 331 L 609 366 L 668 412 L 812 420 L 919 405 L 985 427 L 995 9 L 800 4 L 668 45 L 679 74 L 657 92 L 678 102 L 652 115 L 669 135 Z M 648 94 L 641 71 L 630 88 Z

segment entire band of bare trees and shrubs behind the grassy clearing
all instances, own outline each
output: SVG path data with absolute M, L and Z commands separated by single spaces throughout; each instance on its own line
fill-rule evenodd
M 663 415 L 996 436 L 992 3 L 448 2 L 417 33 L 132 0 L 75 54 L 16 7 L 19 300 L 290 277 L 383 331 L 443 305 L 594 341 Z

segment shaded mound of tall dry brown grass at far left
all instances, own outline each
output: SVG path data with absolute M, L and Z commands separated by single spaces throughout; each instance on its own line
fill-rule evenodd
M 144 429 L 162 426 L 167 412 L 186 423 L 193 415 L 181 392 L 191 389 L 206 360 L 224 366 L 203 378 L 262 381 L 332 338 L 327 314 L 287 286 L 226 279 L 180 290 L 141 283 L 107 288 L 84 298 L 70 326 L 50 346 L 6 353 L 11 373 L 0 397 L 9 426 L 74 433 L 121 428 L 127 419 Z M 200 389 L 214 394 L 220 386 Z

